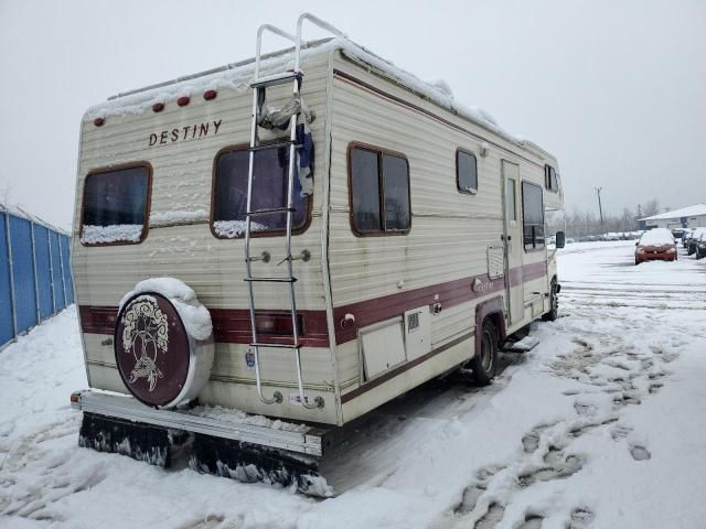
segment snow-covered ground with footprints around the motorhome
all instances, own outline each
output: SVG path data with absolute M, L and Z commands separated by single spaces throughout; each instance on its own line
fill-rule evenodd
M 542 343 L 488 388 L 452 375 L 376 410 L 325 500 L 78 449 L 68 309 L 0 353 L 0 527 L 706 527 L 706 260 L 633 249 L 560 250 Z

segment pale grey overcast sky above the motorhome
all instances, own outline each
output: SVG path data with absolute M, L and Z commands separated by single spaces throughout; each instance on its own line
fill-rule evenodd
M 706 0 L 0 0 L 0 201 L 61 227 L 87 107 L 311 11 L 559 160 L 567 209 L 706 202 Z M 312 32 L 312 36 L 321 36 Z

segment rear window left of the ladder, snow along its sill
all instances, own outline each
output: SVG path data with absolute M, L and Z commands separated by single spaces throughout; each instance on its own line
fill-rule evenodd
M 147 237 L 151 168 L 136 164 L 86 176 L 81 242 L 135 245 Z

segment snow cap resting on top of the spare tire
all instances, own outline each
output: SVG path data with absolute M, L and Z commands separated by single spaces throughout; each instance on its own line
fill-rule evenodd
M 175 278 L 151 278 L 140 281 L 131 292 L 122 296 L 118 312 L 130 299 L 147 292 L 161 294 L 174 305 L 190 336 L 199 341 L 208 339 L 213 332 L 211 313 L 199 302 L 193 289 Z

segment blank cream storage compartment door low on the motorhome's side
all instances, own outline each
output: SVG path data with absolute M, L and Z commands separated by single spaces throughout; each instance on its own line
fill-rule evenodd
M 405 361 L 402 317 L 361 330 L 360 344 L 365 380 Z

